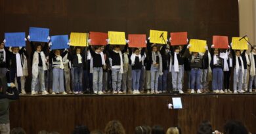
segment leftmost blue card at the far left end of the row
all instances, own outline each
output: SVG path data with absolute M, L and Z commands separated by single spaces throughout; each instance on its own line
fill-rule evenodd
M 25 32 L 5 33 L 5 46 L 26 46 Z

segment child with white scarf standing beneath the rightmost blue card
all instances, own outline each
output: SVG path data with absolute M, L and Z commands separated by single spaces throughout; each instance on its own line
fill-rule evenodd
M 62 56 L 60 56 L 60 50 L 54 50 L 54 54 L 51 53 L 51 60 L 53 61 L 53 95 L 61 93 L 66 95 L 64 90 L 64 65 Z

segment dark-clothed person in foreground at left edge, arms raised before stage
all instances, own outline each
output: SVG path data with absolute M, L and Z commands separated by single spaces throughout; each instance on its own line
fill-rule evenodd
M 0 133 L 10 133 L 10 120 L 9 120 L 9 105 L 11 101 L 19 98 L 18 90 L 15 84 L 11 83 L 11 91 L 14 95 L 8 95 L 3 92 L 3 88 L 0 87 Z

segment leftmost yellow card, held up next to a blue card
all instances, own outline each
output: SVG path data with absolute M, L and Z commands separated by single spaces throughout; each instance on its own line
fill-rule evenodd
M 70 33 L 71 46 L 88 46 L 88 33 Z

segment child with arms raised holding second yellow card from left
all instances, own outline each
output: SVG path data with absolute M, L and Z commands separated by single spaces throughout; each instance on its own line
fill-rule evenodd
M 120 46 L 116 45 L 114 50 L 110 50 L 110 44 L 106 46 L 106 50 L 112 58 L 112 88 L 113 93 L 123 93 L 121 92 L 121 80 L 123 74 L 123 56 L 122 54 L 127 52 L 128 44 L 125 45 L 125 48 L 120 51 Z

